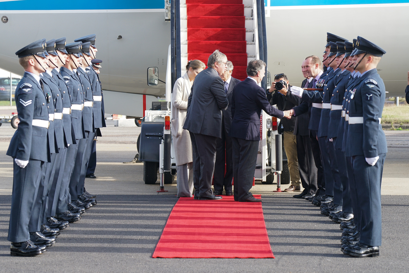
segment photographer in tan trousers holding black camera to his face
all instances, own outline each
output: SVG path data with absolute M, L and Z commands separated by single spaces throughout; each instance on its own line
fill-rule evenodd
M 267 100 L 271 105 L 277 105 L 279 110 L 290 110 L 296 104 L 292 103 L 287 96 L 287 90 L 291 87 L 287 76 L 284 73 L 274 75 L 274 82 L 271 88 L 267 90 Z M 278 131 L 283 134 L 284 150 L 287 154 L 288 169 L 290 171 L 291 186 L 285 189 L 285 192 L 294 192 L 301 190 L 300 172 L 298 170 L 297 140 L 294 132 L 296 119 L 282 119 Z

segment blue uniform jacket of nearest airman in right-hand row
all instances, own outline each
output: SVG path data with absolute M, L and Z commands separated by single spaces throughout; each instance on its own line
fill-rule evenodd
M 379 124 L 385 103 L 385 85 L 376 69 L 359 78 L 355 94 L 350 96 L 349 117 L 363 117 L 363 124 L 349 124 L 347 156 L 375 157 L 386 153 L 387 140 Z

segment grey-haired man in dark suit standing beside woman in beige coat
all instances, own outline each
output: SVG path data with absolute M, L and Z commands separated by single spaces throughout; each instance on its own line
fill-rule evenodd
M 229 101 L 220 75 L 226 70 L 227 57 L 216 50 L 210 55 L 208 69 L 200 72 L 188 99 L 184 129 L 192 138 L 195 199 L 217 200 L 212 192 L 216 140 L 221 137 L 221 110 Z

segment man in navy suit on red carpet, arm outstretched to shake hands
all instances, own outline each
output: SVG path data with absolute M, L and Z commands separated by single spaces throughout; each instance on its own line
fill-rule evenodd
M 234 200 L 241 202 L 261 202 L 249 192 L 253 185 L 257 151 L 260 141 L 260 113 L 290 118 L 289 111 L 281 111 L 270 105 L 265 90 L 258 84 L 264 78 L 265 62 L 250 61 L 247 78 L 236 84 L 232 96 L 232 126 L 230 136 L 233 141 Z

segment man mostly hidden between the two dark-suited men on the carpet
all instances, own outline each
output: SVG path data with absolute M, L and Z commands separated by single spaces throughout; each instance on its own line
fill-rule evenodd
M 216 142 L 216 163 L 214 166 L 214 194 L 221 195 L 224 190 L 226 195 L 233 195 L 233 150 L 232 138 L 229 135 L 232 124 L 232 95 L 233 88 L 240 80 L 232 77 L 233 63 L 226 63 L 226 71 L 220 75 L 224 82 L 224 92 L 229 100 L 227 109 L 222 110 L 221 118 L 221 139 Z M 224 173 L 225 162 L 225 173 Z

